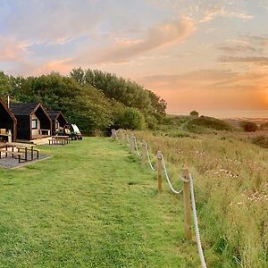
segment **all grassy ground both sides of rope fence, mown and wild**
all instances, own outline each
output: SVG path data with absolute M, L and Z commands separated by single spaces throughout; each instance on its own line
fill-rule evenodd
M 207 267 L 264 268 L 268 154 L 234 134 L 136 132 L 154 164 L 162 150 L 174 188 L 183 166 L 193 174 Z M 0 170 L 0 267 L 200 267 L 182 196 L 164 180 L 158 194 L 155 172 L 143 171 L 125 141 L 39 149 L 53 157 Z

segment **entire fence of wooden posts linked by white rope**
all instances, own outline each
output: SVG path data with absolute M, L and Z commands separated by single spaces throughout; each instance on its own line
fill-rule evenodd
M 188 172 L 187 168 L 183 168 L 182 176 L 180 176 L 180 180 L 183 182 L 183 188 L 177 190 L 173 188 L 172 181 L 170 180 L 168 170 L 166 167 L 166 163 L 163 158 L 163 154 L 161 151 L 158 151 L 156 156 L 156 167 L 154 167 L 151 156 L 149 154 L 148 145 L 145 140 L 142 141 L 142 152 L 140 153 L 138 150 L 138 140 L 132 135 L 129 138 L 128 132 L 126 130 L 112 130 L 112 136 L 114 140 L 119 139 L 120 142 L 122 140 L 130 143 L 130 153 L 132 155 L 138 155 L 141 157 L 141 163 L 143 168 L 146 168 L 146 162 L 149 165 L 149 168 L 153 172 L 157 172 L 157 189 L 158 192 L 161 193 L 163 191 L 162 188 L 162 173 L 164 173 L 164 177 L 167 180 L 169 188 L 171 188 L 172 193 L 176 195 L 183 194 L 183 206 L 184 206 L 184 223 L 185 223 L 185 233 L 186 238 L 192 239 L 191 232 L 191 212 L 193 214 L 193 222 L 195 227 L 195 235 L 197 239 L 197 250 L 200 259 L 200 263 L 202 268 L 206 268 L 205 264 L 205 256 L 201 244 L 199 227 L 198 227 L 198 219 L 197 219 L 197 207 L 196 207 L 196 199 L 195 199 L 195 189 L 194 189 L 194 180 L 191 174 Z

